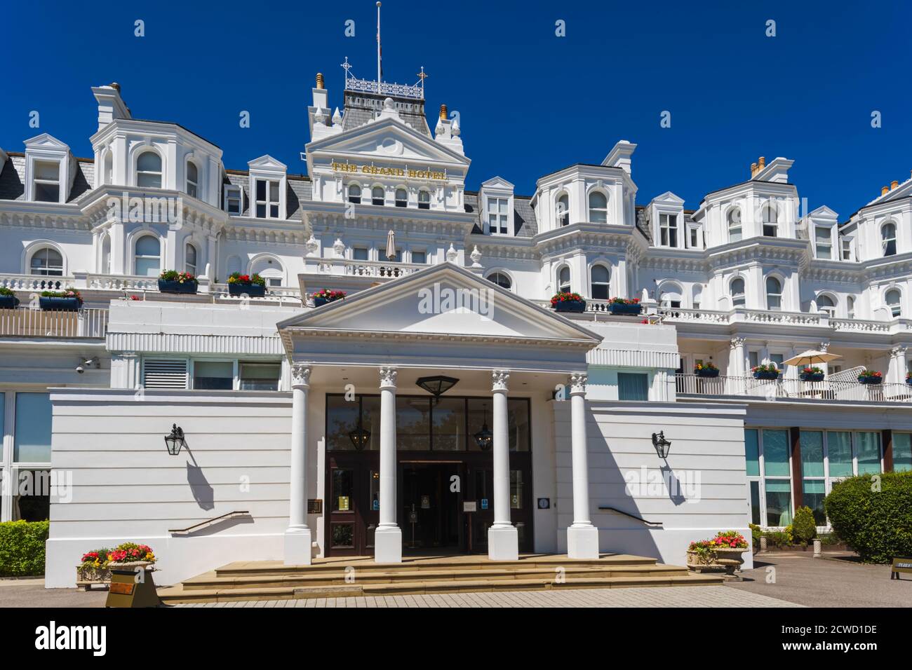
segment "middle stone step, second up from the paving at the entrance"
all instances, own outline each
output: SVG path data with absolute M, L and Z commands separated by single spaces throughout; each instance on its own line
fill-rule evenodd
M 590 577 L 672 577 L 686 575 L 687 568 L 672 565 L 594 565 L 594 566 L 561 566 L 561 574 L 568 579 Z M 207 572 L 183 582 L 185 591 L 197 590 L 237 590 L 249 588 L 281 588 L 284 586 L 327 586 L 350 585 L 346 579 L 352 576 L 359 584 L 365 583 L 400 583 L 400 582 L 449 582 L 449 581 L 488 581 L 488 580 L 521 580 L 550 578 L 554 580 L 558 572 L 554 567 L 483 567 L 482 569 L 451 570 L 398 570 L 361 571 L 353 575 L 343 571 L 291 572 L 287 574 L 244 573 L 238 576 L 223 576 L 221 572 Z

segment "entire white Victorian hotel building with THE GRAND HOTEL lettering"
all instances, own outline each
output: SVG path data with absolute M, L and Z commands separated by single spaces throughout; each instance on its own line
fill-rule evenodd
M 689 541 L 799 505 L 825 526 L 834 481 L 912 467 L 912 180 L 804 212 L 793 161 L 761 159 L 689 210 L 637 198 L 622 140 L 531 195 L 467 191 L 459 125 L 443 106 L 429 124 L 423 86 L 349 76 L 333 104 L 317 77 L 306 175 L 233 170 L 134 119 L 118 85 L 92 92 L 92 157 L 47 133 L 0 149 L 0 285 L 21 303 L 0 309 L 0 520 L 49 516 L 48 586 L 120 541 L 150 544 L 163 583 L 409 551 L 683 564 Z M 160 293 L 166 269 L 198 293 Z M 230 296 L 233 272 L 265 297 Z M 82 308 L 42 312 L 48 288 Z M 315 307 L 322 288 L 347 298 Z M 492 300 L 427 308 L 454 289 Z M 558 290 L 586 311 L 556 314 Z M 824 382 L 751 376 L 806 349 L 841 356 Z M 708 361 L 718 378 L 692 374 Z M 458 381 L 435 397 L 429 376 Z M 19 486 L 50 470 L 53 498 Z

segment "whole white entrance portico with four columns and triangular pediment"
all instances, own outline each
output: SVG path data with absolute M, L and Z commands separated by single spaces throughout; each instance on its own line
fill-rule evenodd
M 451 296 L 456 299 L 451 300 Z M 305 538 L 310 541 L 311 532 L 306 524 L 306 504 L 308 497 L 315 497 L 316 487 L 308 486 L 306 474 L 298 473 L 315 471 L 316 459 L 325 459 L 323 466 L 316 470 L 326 472 L 332 449 L 337 445 L 329 435 L 335 428 L 329 427 L 327 414 L 323 448 L 308 447 L 315 444 L 307 437 L 308 431 L 315 430 L 319 434 L 324 426 L 308 426 L 306 418 L 299 420 L 299 417 L 314 416 L 308 404 L 319 393 L 326 394 L 327 398 L 335 397 L 333 403 L 334 407 L 339 407 L 337 412 L 348 412 L 347 416 L 351 417 L 346 420 L 352 421 L 350 425 L 356 426 L 358 431 L 358 437 L 351 438 L 355 445 L 353 450 L 366 448 L 378 452 L 378 458 L 367 453 L 358 455 L 364 462 L 376 462 L 377 467 L 374 471 L 374 466 L 370 466 L 362 478 L 367 482 L 368 492 L 361 500 L 336 491 L 326 505 L 322 538 L 316 538 L 324 555 L 331 545 L 354 541 L 350 534 L 363 531 L 368 538 L 365 545 L 368 551 L 372 547 L 375 562 L 401 562 L 403 530 L 409 521 L 411 546 L 415 546 L 415 523 L 420 510 L 416 510 L 414 504 L 410 511 L 408 505 L 404 511 L 399 507 L 403 502 L 404 483 L 397 479 L 402 471 L 403 454 L 407 454 L 408 462 L 412 464 L 450 465 L 454 474 L 450 476 L 449 490 L 459 494 L 448 503 L 451 506 L 457 499 L 469 502 L 468 487 L 488 485 L 489 466 L 486 464 L 490 464 L 491 493 L 484 493 L 483 498 L 476 496 L 478 500 L 472 500 L 472 503 L 481 505 L 483 510 L 488 510 L 490 504 L 492 518 L 489 524 L 479 513 L 476 528 L 469 534 L 474 536 L 480 523 L 487 526 L 484 543 L 489 558 L 515 560 L 521 544 L 521 529 L 515 521 L 519 515 L 528 513 L 529 522 L 528 525 L 523 522 L 522 531 L 532 532 L 531 511 L 525 510 L 531 507 L 533 498 L 533 482 L 524 481 L 523 470 L 511 463 L 512 459 L 531 463 L 528 448 L 526 453 L 521 453 L 521 433 L 528 428 L 517 428 L 522 419 L 517 419 L 519 410 L 515 403 L 520 398 L 536 403 L 554 398 L 555 402 L 568 399 L 572 405 L 574 523 L 567 530 L 568 552 L 571 558 L 598 556 L 598 533 L 589 521 L 585 393 L 586 352 L 601 341 L 599 335 L 453 263 L 432 266 L 352 298 L 316 308 L 280 323 L 278 329 L 292 360 L 295 388 L 291 435 L 293 487 L 285 564 L 307 564 L 311 556 L 309 543 L 305 544 Z M 459 395 L 451 390 L 440 397 L 431 397 L 416 387 L 416 380 L 427 375 L 458 378 Z M 419 427 L 430 426 L 430 436 L 440 433 L 434 437 L 433 447 L 430 442 L 427 447 L 421 444 L 420 428 L 397 425 L 398 416 L 409 416 L 402 413 L 412 411 L 409 403 L 418 407 L 415 411 L 430 414 L 430 419 L 423 414 L 421 417 L 415 415 L 417 418 L 412 423 Z M 327 413 L 328 405 L 327 400 Z M 472 421 L 477 423 L 480 405 L 484 428 L 487 428 L 488 417 L 491 420 L 490 452 L 485 450 L 487 447 L 477 447 L 473 438 Z M 528 420 L 528 410 L 524 416 Z M 362 425 L 368 419 L 373 430 Z M 338 422 L 334 419 L 334 425 Z M 412 435 L 416 430 L 418 438 Z M 350 432 L 354 433 L 354 430 Z M 398 438 L 408 438 L 409 444 L 399 447 Z M 529 444 L 533 442 L 530 438 Z M 446 450 L 445 459 L 431 450 L 441 448 Z M 466 449 L 476 453 L 461 456 L 461 451 Z M 356 455 L 349 458 L 356 458 Z M 461 490 L 465 464 L 470 461 L 469 468 L 479 471 L 479 475 L 477 481 L 472 479 L 471 483 L 470 478 L 465 477 L 467 489 Z M 357 470 L 351 469 L 340 474 L 338 481 L 330 481 L 330 486 L 338 484 L 342 492 L 347 492 L 347 489 L 343 490 L 346 486 L 359 491 L 356 479 L 360 477 Z M 541 482 L 536 485 L 544 488 Z M 552 488 L 553 484 L 548 490 Z M 324 494 L 330 496 L 329 492 Z M 538 496 L 538 493 L 534 495 Z M 430 508 L 432 498 L 430 494 L 420 496 L 420 509 L 426 505 Z M 352 507 L 358 512 L 358 521 L 348 524 L 350 528 L 346 528 L 345 523 L 335 525 L 331 519 L 327 521 L 326 515 L 351 512 Z M 473 507 L 482 512 L 471 503 L 461 505 L 455 512 L 457 522 L 461 523 L 461 514 Z M 448 510 L 447 513 L 452 512 Z M 411 519 L 403 518 L 403 514 Z M 471 524 L 470 517 L 470 528 Z M 405 541 L 409 541 L 408 532 Z M 474 545 L 474 551 L 481 543 Z M 468 547 L 472 549 L 471 538 Z

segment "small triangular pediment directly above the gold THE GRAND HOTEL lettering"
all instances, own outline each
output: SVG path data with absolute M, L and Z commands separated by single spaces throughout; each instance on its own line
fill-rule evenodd
M 439 142 L 416 132 L 399 119 L 379 119 L 307 145 L 308 156 L 329 154 L 358 160 L 377 159 L 396 162 L 421 161 L 459 163 L 468 166 L 465 156 L 451 151 Z

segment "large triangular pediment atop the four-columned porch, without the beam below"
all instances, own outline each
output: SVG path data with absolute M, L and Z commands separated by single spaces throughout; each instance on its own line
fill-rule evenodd
M 285 329 L 583 343 L 601 336 L 476 274 L 441 263 L 278 324 Z

